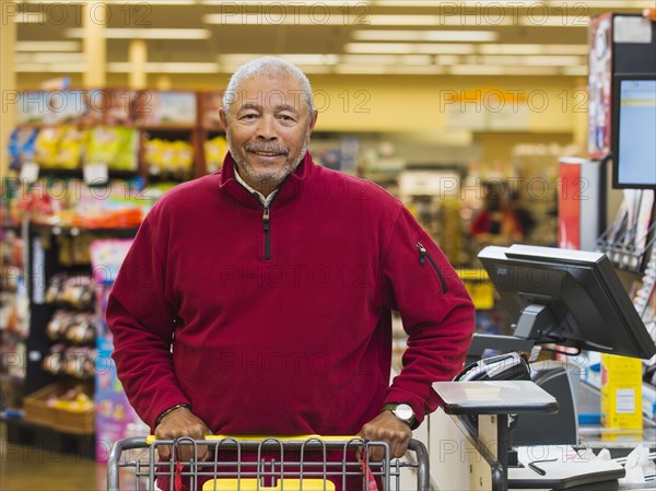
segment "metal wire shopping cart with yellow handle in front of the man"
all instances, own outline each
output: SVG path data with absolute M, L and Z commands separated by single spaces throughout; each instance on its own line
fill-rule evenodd
M 173 448 L 169 461 L 157 460 L 157 448 L 163 445 Z M 198 461 L 203 445 L 209 457 Z M 385 455 L 380 461 L 370 459 L 376 447 Z M 417 474 L 417 488 L 412 489 L 429 491 L 426 448 L 417 440 L 411 440 L 408 448 L 407 458 L 400 460 L 390 459 L 386 443 L 358 436 L 125 439 L 109 453 L 107 490 L 400 491 L 401 470 L 410 469 L 405 472 Z M 183 454 L 191 458 L 181 461 L 177 456 Z

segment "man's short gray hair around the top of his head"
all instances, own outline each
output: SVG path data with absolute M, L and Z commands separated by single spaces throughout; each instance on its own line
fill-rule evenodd
M 307 113 L 312 118 L 314 113 L 314 100 L 312 96 L 309 80 L 307 80 L 307 77 L 305 77 L 305 73 L 303 73 L 298 67 L 274 56 L 256 58 L 255 60 L 248 61 L 246 65 L 241 66 L 233 73 L 233 75 L 230 78 L 230 82 L 227 83 L 227 89 L 223 93 L 223 108 L 225 109 L 225 113 L 229 112 L 231 104 L 234 102 L 237 87 L 242 84 L 242 82 L 257 75 L 291 77 L 295 79 L 301 84 L 303 90 L 303 98 L 305 100 L 305 104 L 307 106 Z

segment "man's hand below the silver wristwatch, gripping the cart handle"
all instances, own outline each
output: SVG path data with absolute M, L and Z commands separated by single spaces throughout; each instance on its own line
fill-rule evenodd
M 390 458 L 400 458 L 406 455 L 408 443 L 412 437 L 412 430 L 407 423 L 394 416 L 391 411 L 383 411 L 362 426 L 360 436 L 372 442 L 386 442 L 389 445 Z M 383 447 L 371 447 L 371 460 L 379 461 L 384 457 L 385 451 Z M 361 455 L 358 458 L 361 458 Z

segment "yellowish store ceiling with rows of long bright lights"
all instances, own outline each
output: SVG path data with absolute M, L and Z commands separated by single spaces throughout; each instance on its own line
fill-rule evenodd
M 85 2 L 16 2 L 16 19 L 21 21 L 17 30 L 19 40 L 80 40 L 83 21 L 90 15 L 83 3 Z M 350 73 L 358 73 L 359 67 L 366 68 L 363 72 L 371 72 L 371 66 L 375 63 L 383 68 L 386 63 L 388 67 L 398 66 L 398 59 L 389 58 L 386 61 L 379 57 L 388 51 L 400 56 L 429 56 L 424 58 L 423 65 L 425 60 L 429 65 L 437 63 L 440 60 L 435 55 L 454 55 L 452 60 L 459 66 L 480 65 L 484 59 L 476 55 L 494 54 L 495 46 L 500 47 L 499 54 L 507 55 L 504 48 L 506 45 L 573 46 L 578 47 L 576 52 L 584 55 L 587 43 L 586 26 L 591 15 L 609 10 L 639 13 L 643 8 L 654 5 L 653 0 L 106 0 L 98 3 L 102 7 L 96 8 L 92 15 L 95 22 L 107 27 L 107 60 L 113 63 L 129 61 L 128 48 L 132 38 L 155 35 L 164 38 L 147 40 L 149 60 L 154 62 L 216 63 L 216 70 L 221 70 L 230 68 L 222 65 L 222 60 L 225 60 L 222 56 L 230 54 L 316 55 L 318 61 L 313 65 L 324 65 L 327 71 L 345 70 Z M 161 30 L 171 31 L 162 33 Z M 397 32 L 396 35 L 390 35 L 397 38 L 394 40 L 396 44 L 367 40 L 372 36 L 371 33 L 378 31 Z M 485 32 L 489 33 L 488 36 L 494 36 L 495 40 L 484 44 L 459 42 L 457 38 L 449 39 L 448 36 L 438 35 L 445 31 Z M 365 34 L 356 35 L 356 32 Z M 402 33 L 407 32 L 424 34 L 403 39 Z M 366 33 L 370 33 L 370 37 L 366 37 Z M 183 35 L 196 34 L 207 38 L 180 38 Z M 120 36 L 128 38 L 115 38 Z M 430 40 L 432 38 L 443 40 Z M 81 47 L 82 43 L 80 49 Z M 558 50 L 554 48 L 552 51 Z M 350 62 L 350 58 L 345 56 L 348 52 L 371 52 L 366 55 L 371 56 L 371 62 L 363 62 L 362 58 L 356 63 Z M 458 55 L 469 56 L 458 58 Z M 497 58 L 496 61 L 490 58 L 487 60 L 505 63 L 507 58 L 506 56 Z M 553 61 L 546 59 L 544 66 L 550 66 Z M 581 73 L 581 70 L 571 70 L 573 66 L 581 65 L 585 65 L 584 56 L 562 58 L 562 63 L 555 66 L 561 74 L 566 74 Z M 337 69 L 338 66 L 341 66 L 340 70 Z M 156 68 L 151 66 L 151 69 Z M 424 66 L 423 70 L 418 70 L 418 73 L 420 72 L 431 73 L 431 70 Z

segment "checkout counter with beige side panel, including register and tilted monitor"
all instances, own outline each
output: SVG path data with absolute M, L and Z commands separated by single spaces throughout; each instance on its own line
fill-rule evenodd
M 431 488 L 654 491 L 654 480 L 631 488 L 618 482 L 624 477 L 619 458 L 634 447 L 651 442 L 654 459 L 654 423 L 626 435 L 578 424 L 578 413 L 598 412 L 599 393 L 581 383 L 578 369 L 528 363 L 529 356 L 517 353 L 549 344 L 642 359 L 656 354 L 608 258 L 515 245 L 487 247 L 479 259 L 515 331 L 476 335 L 468 369 L 454 382 L 434 384 L 444 406 L 414 431 L 429 449 Z M 487 348 L 508 353 L 483 358 Z M 609 432 L 616 437 L 609 440 Z M 596 458 L 601 448 L 612 458 Z

